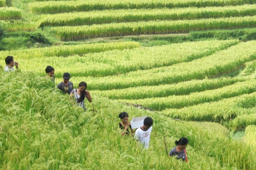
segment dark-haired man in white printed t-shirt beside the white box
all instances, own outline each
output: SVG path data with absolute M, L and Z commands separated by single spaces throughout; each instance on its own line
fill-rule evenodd
M 151 117 L 146 117 L 143 124 L 143 126 L 135 131 L 134 139 L 141 142 L 143 144 L 143 147 L 148 149 L 153 119 Z

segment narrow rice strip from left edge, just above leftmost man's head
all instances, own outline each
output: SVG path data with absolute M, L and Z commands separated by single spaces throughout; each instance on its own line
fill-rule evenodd
M 35 59 L 52 56 L 69 56 L 69 55 L 83 55 L 87 53 L 99 53 L 113 49 L 132 49 L 139 47 L 140 44 L 136 42 L 122 42 L 122 43 L 94 43 L 94 44 L 83 44 L 83 45 L 63 45 L 53 46 L 37 49 L 26 49 L 26 50 L 10 50 L 1 51 L 0 59 L 4 60 L 6 56 L 15 56 L 16 59 Z M 42 59 L 40 59 L 42 64 Z M 30 60 L 31 61 L 31 60 Z M 59 61 L 56 61 L 59 62 Z M 30 66 L 31 67 L 31 66 Z

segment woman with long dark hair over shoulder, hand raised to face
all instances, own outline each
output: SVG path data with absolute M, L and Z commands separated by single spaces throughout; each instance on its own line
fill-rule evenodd
M 70 93 L 70 96 L 74 95 L 74 98 L 76 100 L 76 103 L 78 103 L 79 106 L 84 108 L 84 99 L 85 97 L 89 102 L 92 102 L 91 94 L 88 90 L 86 90 L 87 84 L 85 82 L 80 82 L 77 89 L 73 89 Z M 73 101 L 73 100 L 72 100 Z

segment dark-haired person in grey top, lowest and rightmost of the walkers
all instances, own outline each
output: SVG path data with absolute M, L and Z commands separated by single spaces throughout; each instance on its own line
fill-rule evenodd
M 175 141 L 176 146 L 172 148 L 169 153 L 169 156 L 176 156 L 177 159 L 182 159 L 183 161 L 188 162 L 186 154 L 186 146 L 188 145 L 188 139 L 185 137 L 180 138 L 179 141 Z

